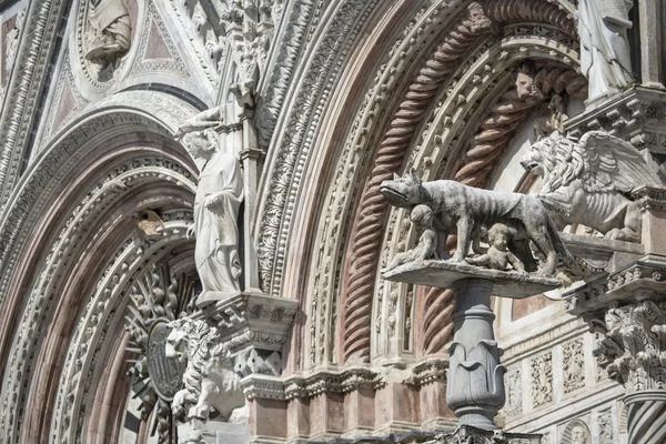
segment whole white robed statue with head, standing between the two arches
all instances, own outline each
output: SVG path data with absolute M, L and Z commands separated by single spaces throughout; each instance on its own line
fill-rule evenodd
M 214 110 L 214 111 L 213 111 Z M 219 109 L 206 110 L 185 122 L 176 137 L 189 134 L 190 150 L 201 168 L 194 199 L 196 234 L 194 262 L 202 284 L 203 300 L 220 299 L 206 293 L 239 292 L 239 208 L 243 202 L 241 163 L 232 148 L 219 148 L 216 134 L 204 128 L 221 123 Z

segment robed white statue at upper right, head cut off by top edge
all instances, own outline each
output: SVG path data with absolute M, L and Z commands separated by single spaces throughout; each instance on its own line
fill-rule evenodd
M 581 70 L 589 99 L 618 91 L 634 80 L 627 30 L 633 0 L 581 0 Z

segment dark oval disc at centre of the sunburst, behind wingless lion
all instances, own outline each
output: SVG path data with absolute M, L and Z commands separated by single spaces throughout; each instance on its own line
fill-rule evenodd
M 158 395 L 172 401 L 175 392 L 182 389 L 186 362 L 167 357 L 167 337 L 171 327 L 167 320 L 157 320 L 148 339 L 148 374 Z

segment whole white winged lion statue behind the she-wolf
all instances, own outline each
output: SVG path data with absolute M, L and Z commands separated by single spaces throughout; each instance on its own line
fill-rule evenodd
M 630 194 L 642 185 L 660 186 L 660 180 L 630 143 L 603 131 L 578 142 L 546 138 L 521 164 L 542 176 L 538 198 L 559 229 L 582 224 L 607 239 L 640 241 L 640 210 Z

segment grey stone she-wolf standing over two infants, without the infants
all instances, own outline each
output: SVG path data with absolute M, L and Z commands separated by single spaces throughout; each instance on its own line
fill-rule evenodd
M 557 226 L 541 201 L 531 195 L 482 190 L 451 180 L 422 182 L 412 169 L 404 176 L 382 182 L 381 193 L 394 206 L 412 209 L 420 204 L 433 211 L 433 226 L 440 239 L 457 234 L 457 249 L 452 262 L 463 263 L 470 245 L 482 228 L 496 223 L 513 233 L 508 245 L 526 271 L 535 271 L 536 261 L 529 249 L 532 241 L 546 258 L 538 274 L 555 274 L 559 260 L 575 273 L 585 274 L 585 266 L 568 251 Z

